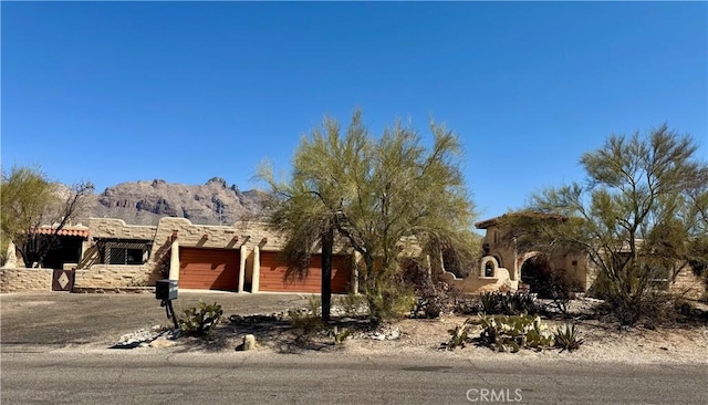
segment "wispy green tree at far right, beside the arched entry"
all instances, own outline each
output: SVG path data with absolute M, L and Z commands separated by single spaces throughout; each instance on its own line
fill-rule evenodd
M 667 125 L 646 136 L 612 135 L 580 159 L 584 184 L 532 197 L 531 209 L 563 218 L 535 224 L 537 248 L 585 251 L 623 324 L 650 313 L 656 280 L 708 262 L 708 165 L 697 150 Z

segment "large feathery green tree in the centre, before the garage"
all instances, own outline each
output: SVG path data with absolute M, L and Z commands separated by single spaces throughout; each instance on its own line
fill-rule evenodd
M 417 131 L 399 122 L 376 139 L 358 111 L 345 131 L 325 118 L 301 141 L 289 180 L 277 180 L 268 165 L 259 174 L 270 186 L 271 226 L 285 237 L 293 272 L 302 273 L 317 249 L 325 258 L 335 243 L 353 249 L 362 259 L 361 287 L 373 320 L 414 303 L 399 282 L 405 247 L 417 246 L 419 257 L 445 250 L 460 263 L 477 255 L 459 139 L 434 122 L 430 132 L 426 147 Z M 323 318 L 329 283 L 323 271 Z

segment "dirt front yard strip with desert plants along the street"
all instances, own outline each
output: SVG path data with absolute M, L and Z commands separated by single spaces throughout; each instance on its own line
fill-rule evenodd
M 339 331 L 347 328 L 353 334 L 342 344 L 326 333 L 315 333 L 310 338 L 298 338 L 301 333 L 291 329 L 285 319 L 279 316 L 238 318 L 218 328 L 211 342 L 197 338 L 180 338 L 178 344 L 185 350 L 235 350 L 246 334 L 253 334 L 258 350 L 288 353 L 344 351 L 357 354 L 434 354 L 462 356 L 469 359 L 519 359 L 558 361 L 600 361 L 625 363 L 705 363 L 708 364 L 708 328 L 706 325 L 620 329 L 601 321 L 580 321 L 584 344 L 576 351 L 561 352 L 558 349 L 533 351 L 522 349 L 518 353 L 499 353 L 475 343 L 448 351 L 448 330 L 462 324 L 468 316 L 442 315 L 434 320 L 405 319 L 378 330 L 371 329 L 364 321 L 344 319 L 337 321 Z M 554 329 L 564 321 L 545 321 Z M 470 338 L 479 336 L 481 326 L 471 325 Z M 393 338 L 393 339 L 392 339 Z

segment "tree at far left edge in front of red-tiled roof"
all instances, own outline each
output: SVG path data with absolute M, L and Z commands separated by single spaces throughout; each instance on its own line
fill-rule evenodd
M 66 188 L 50 181 L 38 168 L 2 170 L 2 246 L 14 242 L 25 267 L 42 264 L 46 253 L 59 245 L 59 232 L 85 209 L 93 189 L 87 181 Z M 50 226 L 51 231 L 40 233 L 42 226 Z

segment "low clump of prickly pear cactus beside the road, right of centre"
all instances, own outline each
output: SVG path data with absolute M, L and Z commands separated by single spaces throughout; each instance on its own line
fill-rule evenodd
M 543 349 L 554 345 L 553 334 L 540 316 L 480 315 L 480 341 L 499 352 L 518 352 L 521 347 Z

